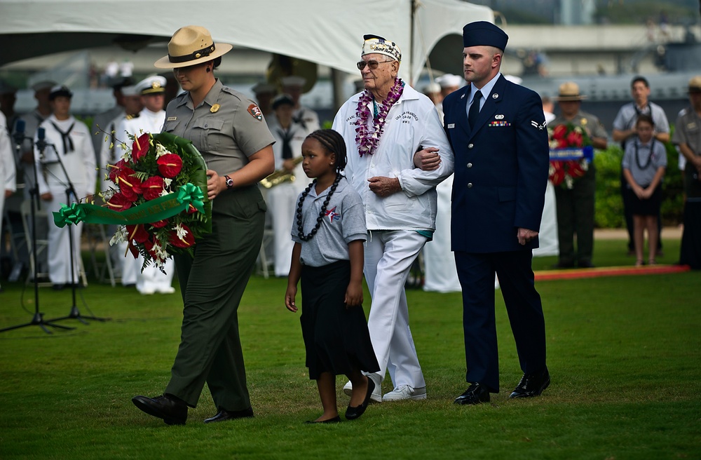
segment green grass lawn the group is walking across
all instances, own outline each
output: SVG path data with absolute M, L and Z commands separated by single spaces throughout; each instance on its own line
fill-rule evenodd
M 678 259 L 665 240 L 662 263 Z M 554 257 L 534 259 L 549 269 Z M 597 241 L 594 263 L 632 265 L 622 241 Z M 304 367 L 299 315 L 283 306 L 286 280 L 252 278 L 240 325 L 254 419 L 205 425 L 205 388 L 186 426 L 137 410 L 158 395 L 179 342 L 179 295 L 141 296 L 90 283 L 71 331 L 37 326 L 0 334 L 1 459 L 698 459 L 701 458 L 701 273 L 536 283 L 547 328 L 550 388 L 509 400 L 521 377 L 501 292 L 501 393 L 490 404 L 452 403 L 465 390 L 459 293 L 410 290 L 428 400 L 371 405 L 357 421 L 305 425 L 320 414 Z M 3 283 L 0 327 L 31 320 L 34 293 Z M 46 318 L 64 316 L 70 291 L 40 290 Z M 366 308 L 369 296 L 366 292 Z M 88 309 L 89 307 L 89 309 Z M 367 311 L 366 311 L 367 313 Z M 348 403 L 337 379 L 339 410 Z M 387 379 L 383 391 L 390 390 Z M 341 412 L 342 413 L 342 412 Z

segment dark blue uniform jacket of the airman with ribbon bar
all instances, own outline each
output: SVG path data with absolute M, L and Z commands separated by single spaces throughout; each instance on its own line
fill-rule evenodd
M 455 155 L 451 249 L 504 252 L 519 245 L 519 227 L 538 231 L 543 215 L 549 148 L 537 93 L 499 76 L 475 129 L 468 126 L 470 86 L 443 101 L 444 129 Z

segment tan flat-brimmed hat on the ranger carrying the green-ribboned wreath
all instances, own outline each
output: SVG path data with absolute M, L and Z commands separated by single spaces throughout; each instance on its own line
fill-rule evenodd
M 158 69 L 176 69 L 202 64 L 229 53 L 229 43 L 215 43 L 210 31 L 198 25 L 188 25 L 175 31 L 168 42 L 168 55 L 154 63 Z

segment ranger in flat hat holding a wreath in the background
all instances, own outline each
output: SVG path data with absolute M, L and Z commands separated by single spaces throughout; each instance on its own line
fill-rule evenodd
M 606 130 L 599 119 L 581 111 L 585 95 L 580 95 L 577 83 L 568 81 L 559 87 L 556 98 L 560 114 L 547 126 L 566 125 L 583 128 L 596 149 L 606 149 Z M 589 163 L 585 175 L 573 182 L 572 188 L 555 187 L 557 210 L 557 239 L 559 241 L 559 269 L 571 269 L 575 262 L 580 268 L 592 268 L 594 252 L 594 194 L 596 192 L 596 170 Z M 574 236 L 577 235 L 577 251 L 574 250 Z

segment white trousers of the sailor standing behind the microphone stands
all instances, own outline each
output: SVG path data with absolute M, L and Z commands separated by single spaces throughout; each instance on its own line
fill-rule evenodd
M 48 213 L 48 277 L 53 284 L 80 282 L 79 260 L 81 258 L 81 234 L 83 222 L 77 225 L 67 224 L 62 229 L 53 222 L 53 212 L 61 209 L 61 203 L 66 202 L 65 189 L 50 189 L 53 200 L 42 201 Z M 71 278 L 71 251 L 69 235 L 73 238 L 74 268 Z

